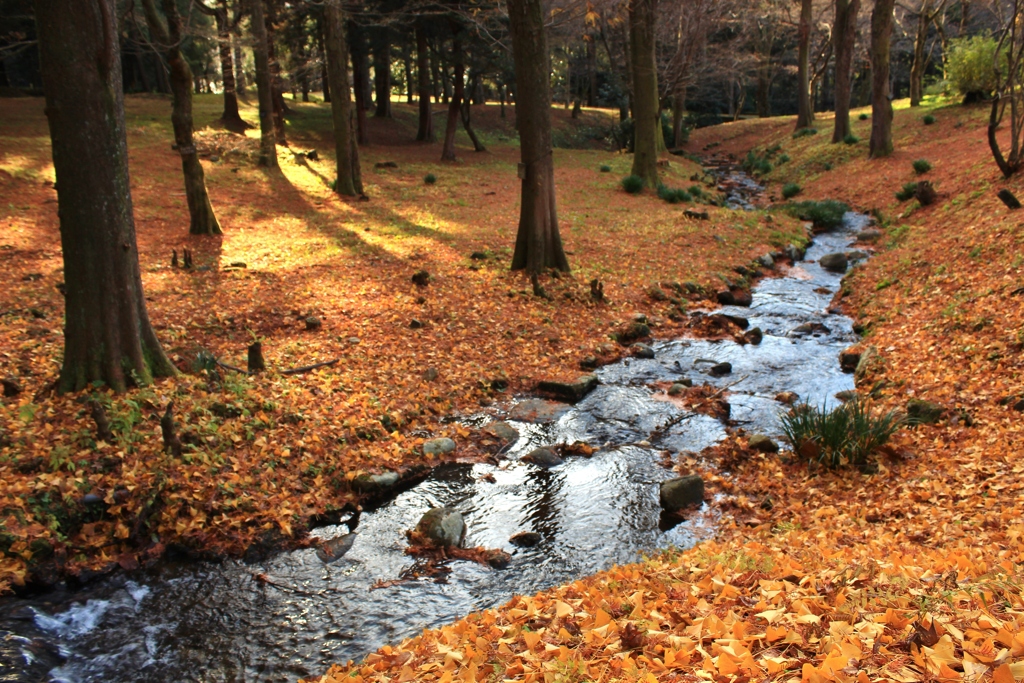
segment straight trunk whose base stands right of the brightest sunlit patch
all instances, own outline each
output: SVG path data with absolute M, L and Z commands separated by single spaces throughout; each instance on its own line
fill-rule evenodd
M 359 152 L 352 135 L 352 104 L 348 86 L 348 46 L 341 0 L 324 0 L 324 35 L 327 48 L 327 73 L 334 99 L 334 151 L 337 167 L 335 191 L 347 197 L 362 194 L 359 178 Z

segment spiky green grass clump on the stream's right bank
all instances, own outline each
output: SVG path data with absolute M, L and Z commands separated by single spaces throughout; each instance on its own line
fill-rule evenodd
M 855 398 L 831 411 L 798 405 L 782 417 L 782 433 L 809 464 L 864 467 L 867 458 L 905 423 L 906 418 L 895 411 L 874 415 Z

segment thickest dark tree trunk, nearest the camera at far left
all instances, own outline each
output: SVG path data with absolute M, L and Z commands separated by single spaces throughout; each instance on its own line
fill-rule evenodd
M 150 324 L 128 178 L 114 0 L 35 3 L 63 254 L 58 390 L 175 374 Z M 84 160 L 102 163 L 84 163 Z

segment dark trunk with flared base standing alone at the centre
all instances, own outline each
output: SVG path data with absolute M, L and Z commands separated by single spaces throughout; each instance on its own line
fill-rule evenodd
M 516 74 L 519 128 L 519 230 L 512 269 L 538 274 L 545 268 L 568 271 L 555 208 L 555 165 L 551 156 L 551 65 L 544 29 L 543 0 L 508 0 Z

